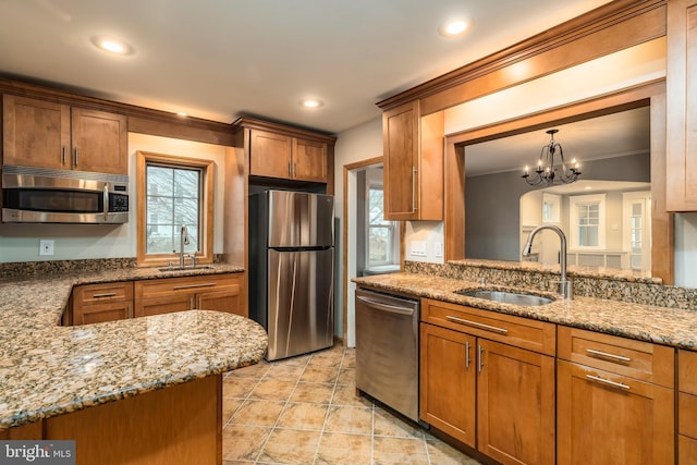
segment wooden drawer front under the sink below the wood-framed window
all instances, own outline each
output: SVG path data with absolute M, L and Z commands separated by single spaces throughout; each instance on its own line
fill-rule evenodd
M 183 278 L 164 278 L 135 283 L 135 297 L 152 298 L 175 294 L 196 294 L 199 292 L 218 291 L 224 286 L 239 285 L 237 279 L 227 276 L 198 276 Z

